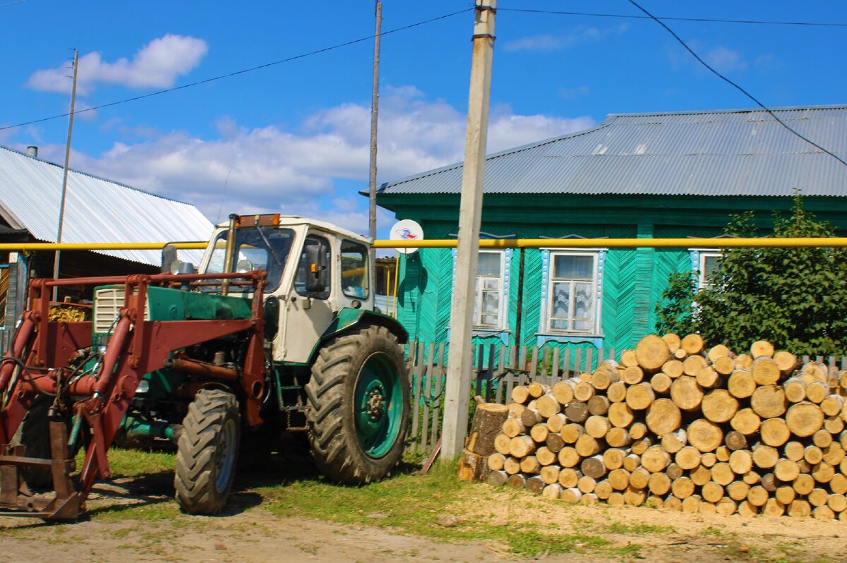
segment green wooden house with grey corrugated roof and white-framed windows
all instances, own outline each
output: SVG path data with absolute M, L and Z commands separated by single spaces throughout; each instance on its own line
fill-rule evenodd
M 794 130 L 794 132 L 790 131 Z M 609 115 L 593 129 L 486 159 L 483 238 L 717 237 L 732 214 L 789 210 L 795 191 L 847 229 L 847 106 Z M 377 201 L 457 237 L 462 163 L 382 185 Z M 474 341 L 634 346 L 653 331 L 674 272 L 702 276 L 698 248 L 479 251 Z M 455 251 L 401 258 L 398 318 L 421 341 L 449 341 Z

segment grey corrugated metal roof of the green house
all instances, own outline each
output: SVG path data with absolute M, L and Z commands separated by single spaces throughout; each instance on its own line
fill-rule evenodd
M 847 160 L 847 106 L 772 109 Z M 457 194 L 462 163 L 380 187 L 381 194 Z M 847 196 L 847 166 L 761 109 L 610 114 L 594 129 L 498 152 L 484 193 L 651 196 Z

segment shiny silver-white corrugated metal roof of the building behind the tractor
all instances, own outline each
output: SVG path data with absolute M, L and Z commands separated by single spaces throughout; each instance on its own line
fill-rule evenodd
M 56 242 L 63 167 L 0 146 L 0 216 L 38 240 Z M 69 170 L 62 242 L 208 240 L 213 225 L 192 205 Z M 97 251 L 158 265 L 159 251 Z M 199 263 L 202 251 L 180 251 Z

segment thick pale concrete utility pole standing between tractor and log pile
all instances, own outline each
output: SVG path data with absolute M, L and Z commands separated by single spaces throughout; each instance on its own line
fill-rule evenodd
M 462 455 L 465 434 L 468 433 L 468 393 L 473 360 L 473 297 L 479 257 L 479 224 L 482 220 L 482 188 L 485 142 L 488 138 L 496 5 L 496 0 L 476 0 L 471 86 L 468 96 L 468 133 L 465 138 L 462 202 L 459 207 L 456 283 L 450 312 L 451 341 L 450 353 L 447 356 L 444 432 L 441 435 L 443 461 Z

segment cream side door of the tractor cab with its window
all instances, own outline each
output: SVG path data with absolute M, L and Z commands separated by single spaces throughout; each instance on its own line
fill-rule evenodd
M 315 343 L 332 322 L 334 263 L 329 239 L 307 235 L 298 257 L 294 285 L 285 300 L 285 362 L 308 362 Z M 315 286 L 318 279 L 325 280 L 323 287 Z

